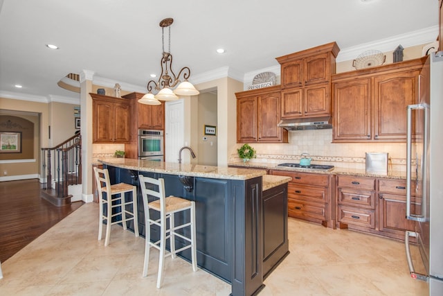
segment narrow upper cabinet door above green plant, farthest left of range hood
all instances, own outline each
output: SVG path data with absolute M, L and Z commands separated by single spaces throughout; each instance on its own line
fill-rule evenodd
M 276 125 L 275 125 L 276 126 Z M 237 100 L 237 143 L 257 141 L 257 97 Z

